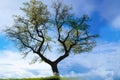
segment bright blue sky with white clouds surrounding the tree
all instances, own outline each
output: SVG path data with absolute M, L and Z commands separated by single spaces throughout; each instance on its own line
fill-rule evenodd
M 2 0 L 0 3 L 0 78 L 52 75 L 50 66 L 45 63 L 29 65 L 32 56 L 23 59 L 16 46 L 2 31 L 5 26 L 12 26 L 13 15 L 23 14 L 19 8 L 26 1 L 28 0 Z M 43 0 L 47 5 L 52 1 Z M 65 0 L 64 3 L 72 5 L 77 16 L 89 15 L 91 31 L 98 33 L 100 37 L 93 51 L 74 57 L 71 55 L 62 61 L 59 64 L 61 75 L 77 76 L 86 80 L 120 79 L 120 1 Z M 52 58 L 56 56 L 50 55 Z

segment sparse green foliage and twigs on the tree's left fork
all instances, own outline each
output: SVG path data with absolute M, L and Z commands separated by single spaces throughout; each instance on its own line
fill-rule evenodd
M 21 8 L 21 10 L 26 15 L 14 16 L 15 24 L 5 31 L 16 42 L 20 51 L 24 51 L 26 56 L 41 45 L 41 41 L 43 40 L 41 35 L 44 35 L 45 42 L 48 43 L 50 41 L 50 37 L 45 35 L 47 34 L 45 24 L 48 21 L 49 12 L 47 11 L 47 6 L 37 0 L 24 3 L 24 8 Z

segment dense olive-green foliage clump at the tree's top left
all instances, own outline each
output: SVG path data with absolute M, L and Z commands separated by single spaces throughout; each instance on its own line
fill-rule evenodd
M 26 17 L 32 24 L 44 24 L 48 20 L 49 12 L 47 6 L 41 1 L 31 0 L 30 3 L 24 3 L 25 7 L 21 8 L 26 13 Z

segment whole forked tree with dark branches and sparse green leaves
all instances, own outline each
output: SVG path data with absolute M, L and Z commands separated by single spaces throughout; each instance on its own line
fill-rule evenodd
M 55 76 L 59 76 L 57 64 L 70 54 L 80 54 L 91 51 L 95 46 L 96 35 L 89 33 L 89 18 L 86 15 L 76 17 L 70 11 L 72 8 L 62 2 L 53 3 L 52 9 L 41 1 L 30 0 L 23 3 L 21 8 L 24 16 L 15 16 L 14 25 L 5 31 L 9 38 L 15 41 L 20 51 L 27 56 L 29 53 L 37 54 L 33 62 L 40 59 L 52 68 Z M 50 34 L 50 35 L 49 35 Z M 55 46 L 61 52 L 54 61 L 46 57 Z

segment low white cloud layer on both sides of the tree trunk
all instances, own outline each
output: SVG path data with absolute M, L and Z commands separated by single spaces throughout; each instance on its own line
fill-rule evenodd
M 103 43 L 90 53 L 71 55 L 59 64 L 62 76 L 73 76 L 85 80 L 114 80 L 120 78 L 120 44 Z M 51 67 L 45 63 L 29 65 L 30 58 L 22 59 L 12 51 L 1 51 L 0 77 L 43 77 L 52 75 Z

